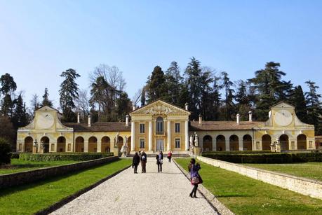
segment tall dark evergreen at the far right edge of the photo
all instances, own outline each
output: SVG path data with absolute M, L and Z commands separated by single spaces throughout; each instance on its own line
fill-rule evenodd
M 316 92 L 318 86 L 313 81 L 306 81 L 309 92 L 305 92 L 307 102 L 307 118 L 308 123 L 314 125 L 316 134 L 322 134 L 322 102 L 320 102 L 321 94 Z

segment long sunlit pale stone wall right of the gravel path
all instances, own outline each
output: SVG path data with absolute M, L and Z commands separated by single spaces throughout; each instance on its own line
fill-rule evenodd
M 263 169 L 255 169 L 253 167 L 245 167 L 243 165 L 237 165 L 231 162 L 205 158 L 202 156 L 197 156 L 197 159 L 215 167 L 220 167 L 222 169 L 227 169 L 232 172 L 237 172 L 244 176 L 248 176 L 252 179 L 260 180 L 265 183 L 270 183 L 272 185 L 279 186 L 281 188 L 293 190 L 297 193 L 301 193 L 302 195 L 309 195 L 310 197 L 316 197 L 322 200 L 321 181 L 303 179 L 296 176 L 290 176 L 288 174 L 281 174 Z

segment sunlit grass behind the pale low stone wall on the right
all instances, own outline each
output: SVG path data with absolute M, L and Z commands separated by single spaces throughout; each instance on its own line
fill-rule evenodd
M 291 174 L 307 179 L 322 181 L 322 162 L 302 162 L 290 164 L 243 164 L 248 167 L 266 169 L 274 172 Z

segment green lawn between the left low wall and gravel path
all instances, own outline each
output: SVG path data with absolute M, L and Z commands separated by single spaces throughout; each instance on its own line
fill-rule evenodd
M 130 165 L 120 159 L 52 179 L 0 190 L 0 214 L 34 214 Z

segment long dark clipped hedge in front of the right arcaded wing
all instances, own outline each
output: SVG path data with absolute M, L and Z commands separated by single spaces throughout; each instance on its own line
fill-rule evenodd
M 234 163 L 291 163 L 322 162 L 322 153 L 257 153 L 257 154 L 219 154 L 203 153 L 206 158 L 213 158 Z

